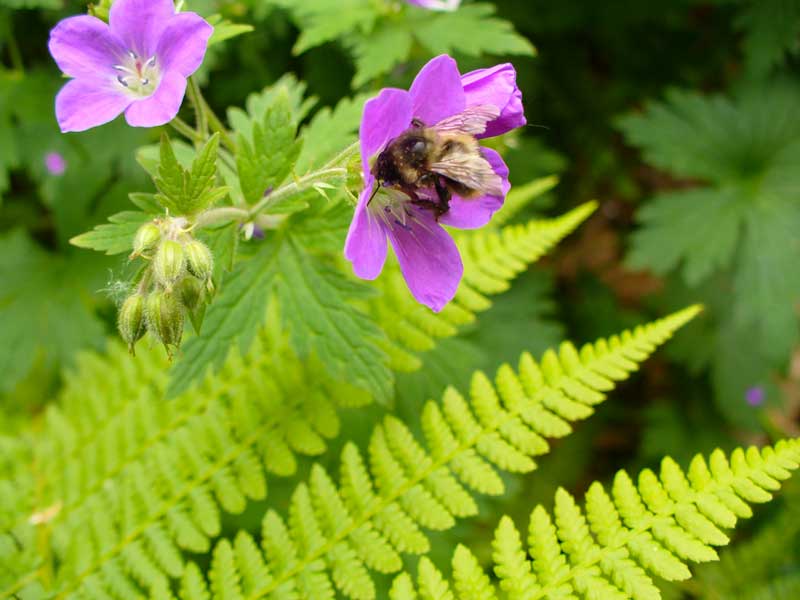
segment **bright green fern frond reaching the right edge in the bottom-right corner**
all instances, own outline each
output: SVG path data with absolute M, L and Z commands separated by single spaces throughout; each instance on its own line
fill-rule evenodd
M 751 516 L 750 503 L 771 500 L 798 467 L 800 440 L 791 440 L 774 448 L 739 448 L 730 461 L 720 450 L 708 461 L 698 455 L 688 473 L 665 458 L 659 475 L 646 469 L 636 484 L 620 471 L 610 494 L 599 483 L 591 485 L 583 510 L 559 489 L 552 516 L 541 506 L 531 513 L 527 549 L 512 520 L 500 520 L 492 544 L 500 590 L 459 546 L 452 582 L 422 558 L 416 589 L 402 575 L 391 598 L 657 600 L 653 575 L 684 580 L 691 577 L 687 562 L 717 560 L 714 547 L 728 543 L 723 530 Z M 782 591 L 797 589 L 790 579 L 779 585 Z

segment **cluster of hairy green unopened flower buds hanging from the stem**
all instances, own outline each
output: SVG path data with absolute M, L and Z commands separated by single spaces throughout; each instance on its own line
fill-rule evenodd
M 163 217 L 139 228 L 130 258 L 149 264 L 136 291 L 120 307 L 120 335 L 133 353 L 136 342 L 150 332 L 172 356 L 180 346 L 186 316 L 197 323 L 214 291 L 211 251 L 192 237 L 186 219 Z

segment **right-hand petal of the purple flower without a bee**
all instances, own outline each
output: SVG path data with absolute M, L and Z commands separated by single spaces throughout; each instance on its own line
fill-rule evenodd
M 191 12 L 175 15 L 161 34 L 156 49 L 162 71 L 175 70 L 189 77 L 203 62 L 212 33 L 214 28 L 200 15 Z

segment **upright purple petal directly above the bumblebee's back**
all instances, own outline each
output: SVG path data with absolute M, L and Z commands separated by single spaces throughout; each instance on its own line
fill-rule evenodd
M 466 108 L 466 96 L 456 61 L 442 54 L 422 67 L 409 90 L 412 116 L 435 125 Z

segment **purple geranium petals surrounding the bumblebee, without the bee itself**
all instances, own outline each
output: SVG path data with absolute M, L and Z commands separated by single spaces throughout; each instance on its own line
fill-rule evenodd
M 461 229 L 486 225 L 505 201 L 510 188 L 508 168 L 497 152 L 482 148 L 501 180 L 502 194 L 470 200 L 454 195 L 449 210 L 437 219 L 434 211 L 392 188 L 381 188 L 370 200 L 375 187 L 371 165 L 389 142 L 412 127 L 412 120 L 434 125 L 473 107 L 499 115 L 485 124 L 477 138 L 524 125 L 514 67 L 505 64 L 461 75 L 452 58 L 438 56 L 423 67 L 409 91 L 384 89 L 364 105 L 361 118 L 364 189 L 350 224 L 345 256 L 357 276 L 375 279 L 386 260 L 388 237 L 414 298 L 436 312 L 453 299 L 464 270 L 458 249 L 442 225 Z

